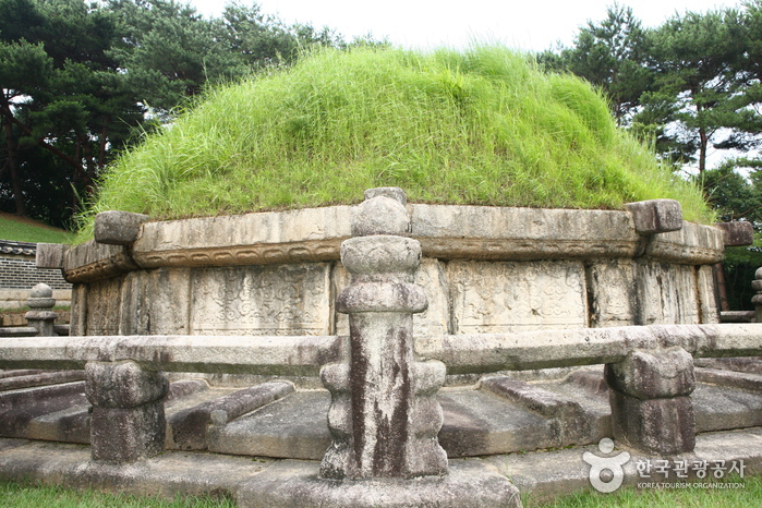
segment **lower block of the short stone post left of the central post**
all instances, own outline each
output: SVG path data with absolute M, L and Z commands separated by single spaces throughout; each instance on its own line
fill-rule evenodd
M 90 452 L 96 462 L 125 463 L 164 451 L 164 402 L 136 408 L 93 408 Z

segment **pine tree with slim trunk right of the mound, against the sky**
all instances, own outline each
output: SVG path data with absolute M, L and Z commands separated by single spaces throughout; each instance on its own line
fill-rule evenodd
M 737 147 L 739 134 L 762 126 L 738 80 L 747 41 L 741 16 L 731 9 L 688 12 L 651 31 L 649 40 L 656 86 L 641 97 L 637 120 L 663 126 L 660 148 L 674 159 L 698 152 L 702 173 L 712 145 Z

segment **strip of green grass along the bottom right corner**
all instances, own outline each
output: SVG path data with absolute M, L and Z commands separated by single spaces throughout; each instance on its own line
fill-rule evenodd
M 707 481 L 709 482 L 709 481 Z M 551 503 L 533 501 L 531 495 L 523 496 L 525 508 L 673 508 L 673 507 L 723 507 L 748 508 L 762 503 L 762 477 L 730 477 L 723 483 L 742 483 L 743 488 L 681 488 L 681 489 L 634 489 L 621 488 L 612 494 L 595 491 L 569 494 Z

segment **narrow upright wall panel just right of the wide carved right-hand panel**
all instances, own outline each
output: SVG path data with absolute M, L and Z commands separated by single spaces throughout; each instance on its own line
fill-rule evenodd
M 638 316 L 633 262 L 596 262 L 588 268 L 590 326 L 631 326 Z

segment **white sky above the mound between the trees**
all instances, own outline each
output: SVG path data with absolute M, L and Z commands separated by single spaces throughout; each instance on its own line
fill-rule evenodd
M 225 0 L 190 0 L 201 13 L 219 16 Z M 251 0 L 240 0 L 251 5 Z M 371 33 L 407 48 L 463 47 L 471 40 L 504 43 L 542 51 L 560 40 L 569 46 L 589 20 L 601 21 L 614 0 L 261 0 L 266 14 L 287 24 L 328 26 L 351 40 Z M 741 0 L 630 0 L 643 25 L 658 26 L 675 13 L 736 7 Z

